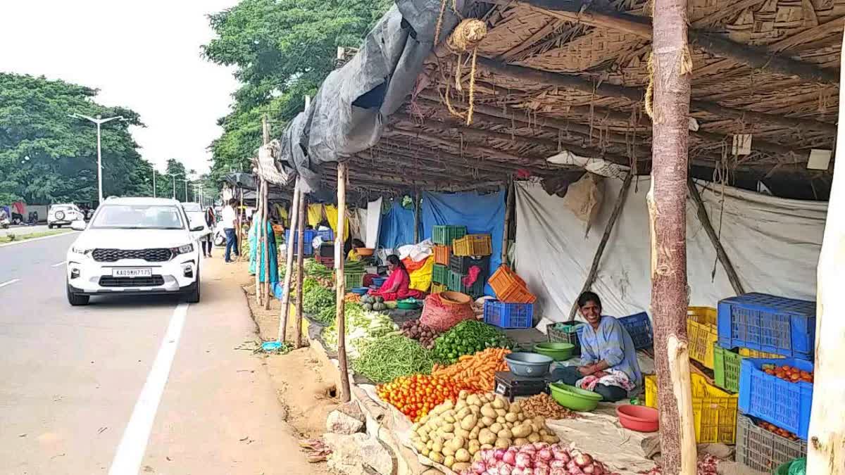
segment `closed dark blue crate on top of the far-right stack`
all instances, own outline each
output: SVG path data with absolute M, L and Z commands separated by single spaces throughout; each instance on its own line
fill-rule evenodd
M 815 302 L 746 293 L 718 308 L 719 346 L 813 359 Z

